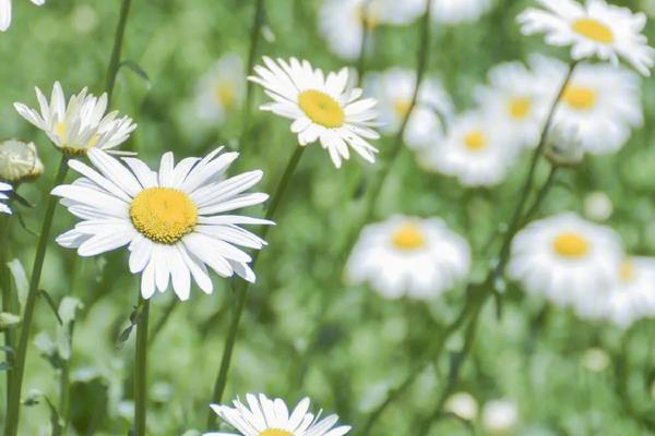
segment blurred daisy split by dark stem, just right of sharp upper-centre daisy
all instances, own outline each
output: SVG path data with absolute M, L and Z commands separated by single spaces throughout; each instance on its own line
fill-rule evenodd
M 393 134 L 401 129 L 412 105 L 415 84 L 416 72 L 413 70 L 394 68 L 369 75 L 366 88 L 379 101 L 384 133 Z M 442 118 L 449 118 L 452 112 L 452 100 L 441 83 L 434 77 L 426 77 L 405 130 L 407 146 L 421 149 L 438 142 L 443 136 Z

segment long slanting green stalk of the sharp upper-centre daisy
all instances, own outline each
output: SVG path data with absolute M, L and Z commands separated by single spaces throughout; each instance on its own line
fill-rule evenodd
M 272 219 L 275 216 L 275 211 L 277 210 L 282 198 L 284 197 L 285 192 L 287 191 L 289 181 L 294 172 L 296 171 L 296 167 L 300 161 L 300 157 L 302 157 L 302 152 L 305 152 L 303 146 L 298 145 L 296 150 L 291 155 L 286 169 L 282 175 L 282 180 L 277 185 L 277 190 L 275 194 L 271 198 L 271 204 L 266 209 L 265 219 Z M 266 238 L 269 233 L 270 226 L 264 226 L 261 231 L 261 238 Z M 260 251 L 255 251 L 252 254 L 251 267 L 254 268 L 257 264 L 257 259 L 259 258 Z M 231 362 L 231 355 L 235 348 L 235 342 L 237 339 L 237 332 L 239 330 L 239 323 L 241 320 L 241 315 L 243 313 L 243 307 L 246 306 L 246 298 L 248 295 L 248 288 L 250 287 L 250 282 L 246 280 L 240 280 L 237 284 L 236 289 L 236 304 L 231 314 L 231 319 L 229 324 L 229 330 L 227 332 L 227 339 L 225 340 L 225 347 L 223 349 L 223 358 L 221 359 L 221 367 L 218 370 L 218 376 L 216 377 L 216 383 L 214 384 L 214 392 L 212 395 L 212 402 L 218 403 L 223 398 L 223 393 L 225 392 L 225 387 L 227 385 L 227 373 L 229 371 L 229 365 Z M 214 425 L 215 416 L 214 413 L 211 412 L 207 416 L 207 429 Z

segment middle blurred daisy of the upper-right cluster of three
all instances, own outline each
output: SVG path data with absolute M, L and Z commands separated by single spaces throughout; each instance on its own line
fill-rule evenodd
M 485 116 L 499 119 L 508 140 L 534 148 L 539 142 L 549 106 L 549 93 L 521 62 L 501 63 L 489 71 L 489 85 L 475 92 Z

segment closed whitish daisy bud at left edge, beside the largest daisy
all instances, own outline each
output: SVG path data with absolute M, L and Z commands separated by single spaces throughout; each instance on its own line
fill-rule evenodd
M 0 180 L 20 183 L 37 179 L 44 172 L 34 143 L 9 140 L 0 143 Z

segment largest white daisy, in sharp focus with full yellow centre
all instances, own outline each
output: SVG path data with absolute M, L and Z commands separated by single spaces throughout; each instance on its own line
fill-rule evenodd
M 128 245 L 130 271 L 141 274 L 141 294 L 150 299 L 155 289 L 166 291 L 169 281 L 180 300 L 189 298 L 191 278 L 212 293 L 209 266 L 221 277 L 235 272 L 254 282 L 248 264 L 251 257 L 238 246 L 260 250 L 265 242 L 239 225 L 271 225 L 271 221 L 225 213 L 258 205 L 269 197 L 245 193 L 262 178 L 250 171 L 224 180 L 237 153 L 203 159 L 162 157 L 159 171 L 136 158 L 124 158 L 127 167 L 103 150 L 92 148 L 94 168 L 79 160 L 69 166 L 83 177 L 60 185 L 52 195 L 82 219 L 57 242 L 78 249 L 81 256 L 95 256 Z

